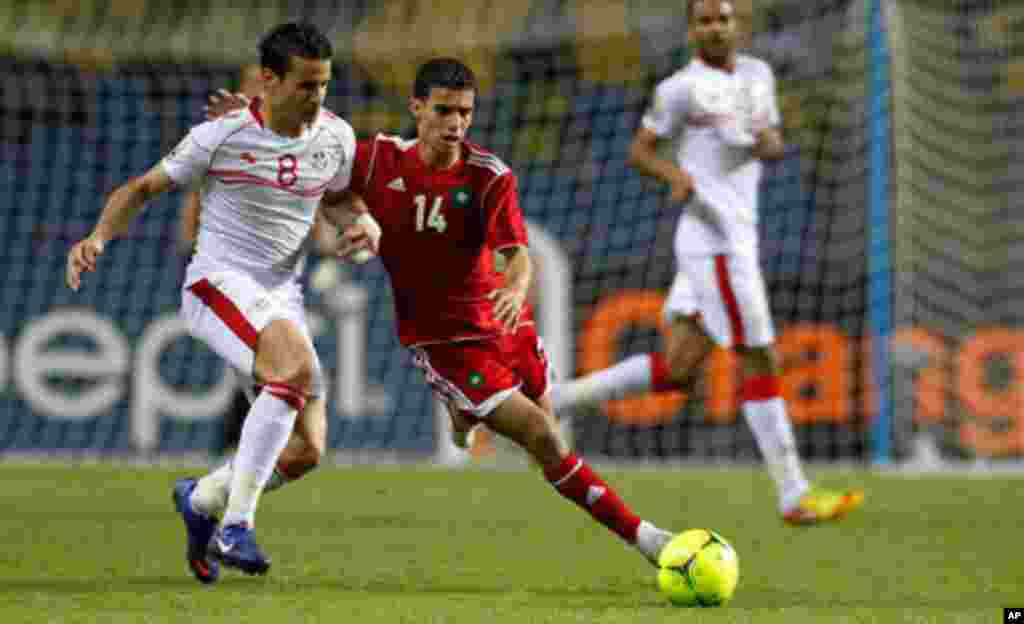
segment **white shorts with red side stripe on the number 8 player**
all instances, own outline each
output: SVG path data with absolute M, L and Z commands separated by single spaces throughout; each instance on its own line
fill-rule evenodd
M 273 289 L 237 271 L 189 271 L 181 289 L 181 319 L 188 332 L 242 375 L 253 378 L 259 333 L 272 321 L 295 323 L 313 352 L 313 397 L 323 393 L 324 372 L 306 325 L 302 288 L 294 281 Z

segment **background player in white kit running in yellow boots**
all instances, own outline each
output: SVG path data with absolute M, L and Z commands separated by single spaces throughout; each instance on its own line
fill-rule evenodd
M 695 57 L 659 83 L 630 149 L 630 163 L 669 184 L 685 202 L 676 230 L 678 273 L 663 310 L 665 352 L 634 356 L 556 386 L 557 408 L 637 391 L 688 388 L 718 344 L 742 360 L 743 416 L 754 431 L 786 523 L 843 516 L 859 491 L 811 488 L 779 393 L 774 330 L 758 260 L 757 194 L 761 161 L 782 158 L 775 79 L 764 61 L 736 51 L 728 0 L 691 0 Z M 659 141 L 681 135 L 678 164 L 660 158 Z

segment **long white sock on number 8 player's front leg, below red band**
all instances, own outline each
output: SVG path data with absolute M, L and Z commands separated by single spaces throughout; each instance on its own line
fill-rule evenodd
M 254 525 L 260 493 L 288 444 L 297 415 L 295 407 L 266 389 L 253 403 L 242 427 L 239 452 L 231 462 L 227 509 L 221 525 Z

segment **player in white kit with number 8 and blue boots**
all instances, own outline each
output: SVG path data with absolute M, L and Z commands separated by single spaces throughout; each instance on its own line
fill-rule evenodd
M 322 106 L 332 56 L 314 26 L 273 29 L 260 43 L 264 97 L 194 127 L 163 161 L 115 190 L 68 258 L 68 285 L 78 290 L 82 273 L 96 269 L 104 247 L 127 232 L 146 201 L 205 182 L 181 316 L 194 336 L 262 391 L 233 460 L 174 488 L 188 566 L 204 583 L 217 580 L 218 561 L 248 574 L 267 571 L 254 533 L 259 495 L 304 474 L 324 452 L 323 372 L 297 281 L 316 212 L 336 225 L 364 227 L 370 239 L 379 233 L 368 216 L 353 225 L 342 203 L 355 134 Z

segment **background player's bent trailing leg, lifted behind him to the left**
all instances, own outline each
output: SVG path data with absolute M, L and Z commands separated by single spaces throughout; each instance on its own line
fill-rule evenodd
M 696 299 L 685 271 L 673 281 L 663 315 L 669 329 L 664 352 L 631 356 L 609 368 L 556 384 L 551 391 L 555 410 L 647 391 L 689 392 L 715 344 L 697 321 Z

